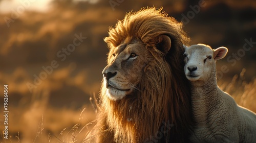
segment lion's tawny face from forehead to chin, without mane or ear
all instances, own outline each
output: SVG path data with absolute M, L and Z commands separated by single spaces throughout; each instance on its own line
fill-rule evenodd
M 108 65 L 102 71 L 103 86 L 107 88 L 107 95 L 111 100 L 122 99 L 136 89 L 147 64 L 146 55 L 149 53 L 138 40 L 112 47 Z

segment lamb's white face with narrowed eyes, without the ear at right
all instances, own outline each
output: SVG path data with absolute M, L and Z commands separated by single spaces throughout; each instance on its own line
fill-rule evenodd
M 214 52 L 207 45 L 197 44 L 186 47 L 184 71 L 190 81 L 206 81 L 215 68 Z

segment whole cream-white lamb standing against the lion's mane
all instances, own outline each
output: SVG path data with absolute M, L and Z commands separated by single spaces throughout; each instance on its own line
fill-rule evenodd
M 236 104 L 217 85 L 216 60 L 226 47 L 212 50 L 205 44 L 185 46 L 186 78 L 191 82 L 195 127 L 192 142 L 256 142 L 256 114 Z

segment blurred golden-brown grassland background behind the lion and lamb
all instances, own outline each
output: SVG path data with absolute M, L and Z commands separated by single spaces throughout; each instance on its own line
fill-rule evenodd
M 256 1 L 2 0 L 0 113 L 8 84 L 8 139 L 1 142 L 87 142 L 108 48 L 103 38 L 125 13 L 163 10 L 184 23 L 190 44 L 226 46 L 218 84 L 256 112 Z

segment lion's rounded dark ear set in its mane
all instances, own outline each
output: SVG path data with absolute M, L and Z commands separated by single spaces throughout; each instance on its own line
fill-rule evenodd
M 170 50 L 171 42 L 170 37 L 167 35 L 160 35 L 156 41 L 156 47 L 163 53 L 168 53 Z

